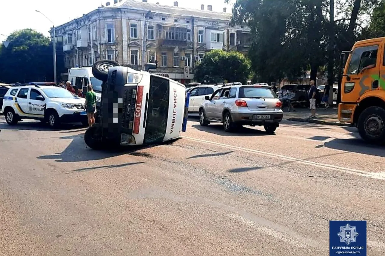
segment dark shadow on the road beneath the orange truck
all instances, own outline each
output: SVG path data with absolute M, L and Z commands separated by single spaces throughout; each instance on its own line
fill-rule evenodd
M 369 145 L 365 141 L 358 138 L 335 139 L 329 142 L 325 142 L 323 146 L 353 153 L 367 154 L 372 156 L 385 156 L 384 146 Z

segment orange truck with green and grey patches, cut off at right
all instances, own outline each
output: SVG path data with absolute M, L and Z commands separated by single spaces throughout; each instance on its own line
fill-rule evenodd
M 358 41 L 341 53 L 338 119 L 357 126 L 363 140 L 385 143 L 385 37 Z

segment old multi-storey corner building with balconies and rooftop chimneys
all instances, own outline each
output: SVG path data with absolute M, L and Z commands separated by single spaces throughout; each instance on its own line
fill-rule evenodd
M 101 59 L 141 69 L 159 63 L 155 73 L 189 83 L 194 66 L 213 49 L 247 53 L 251 34 L 246 26 L 231 26 L 231 13 L 148 3 L 147 0 L 113 0 L 55 28 L 63 42 L 66 68 L 90 66 Z M 50 30 L 53 36 L 53 29 Z M 68 73 L 62 73 L 66 79 Z

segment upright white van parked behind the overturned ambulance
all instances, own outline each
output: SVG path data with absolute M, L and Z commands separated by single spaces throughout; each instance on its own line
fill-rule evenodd
M 92 85 L 92 89 L 94 89 L 96 94 L 96 113 L 98 113 L 98 110 L 100 110 L 103 82 L 92 75 L 92 67 L 71 68 L 68 80 L 71 82 L 72 86 L 76 86 L 78 89 L 83 89 L 83 87 L 87 87 L 89 84 Z M 87 89 L 83 90 L 84 97 L 85 93 L 87 93 Z

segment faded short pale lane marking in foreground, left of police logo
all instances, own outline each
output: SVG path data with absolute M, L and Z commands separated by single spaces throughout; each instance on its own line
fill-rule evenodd
M 271 229 L 271 228 L 268 228 L 265 226 L 258 225 L 254 221 L 246 219 L 242 216 L 239 216 L 236 214 L 231 214 L 231 215 L 229 215 L 229 217 L 236 219 L 243 224 L 246 224 L 248 226 L 251 226 L 251 227 L 257 229 L 258 232 L 260 232 L 260 233 L 268 234 L 269 236 L 272 236 L 273 238 L 279 239 L 285 243 L 291 244 L 292 246 L 300 247 L 300 248 L 306 247 L 306 245 L 303 244 L 301 241 L 298 241 L 298 240 L 292 238 L 291 236 L 286 235 L 285 233 L 276 231 L 274 229 Z

